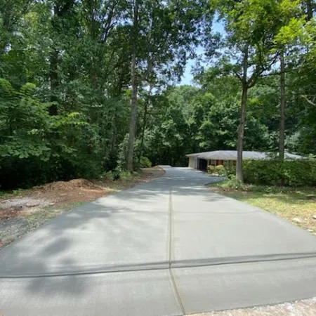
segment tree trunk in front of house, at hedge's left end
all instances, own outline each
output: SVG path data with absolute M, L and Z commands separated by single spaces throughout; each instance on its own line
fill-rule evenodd
M 238 129 L 238 140 L 237 140 L 237 164 L 236 164 L 236 178 L 239 181 L 244 181 L 242 173 L 242 150 L 244 147 L 244 126 L 246 121 L 246 103 L 248 98 L 248 54 L 249 47 L 246 46 L 244 50 L 244 61 L 243 61 L 243 73 L 242 73 L 242 102 L 240 105 L 240 121 Z

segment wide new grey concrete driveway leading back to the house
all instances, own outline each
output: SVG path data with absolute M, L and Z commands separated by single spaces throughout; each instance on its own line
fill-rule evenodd
M 185 315 L 316 296 L 316 238 L 185 168 L 0 251 L 0 315 Z

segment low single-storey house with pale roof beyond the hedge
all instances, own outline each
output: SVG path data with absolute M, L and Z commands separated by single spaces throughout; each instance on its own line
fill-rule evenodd
M 218 164 L 236 164 L 237 150 L 216 150 L 214 152 L 197 152 L 186 154 L 189 158 L 189 167 L 192 169 L 206 170 L 207 166 Z M 242 152 L 242 159 L 267 160 L 271 159 L 268 152 Z M 303 159 L 298 154 L 284 154 L 284 159 Z

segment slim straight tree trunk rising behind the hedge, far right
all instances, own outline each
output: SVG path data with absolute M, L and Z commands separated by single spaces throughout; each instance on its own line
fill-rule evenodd
M 280 94 L 281 94 L 281 103 L 280 103 L 280 117 L 279 117 L 279 159 L 284 160 L 284 123 L 285 123 L 285 64 L 284 64 L 284 52 L 281 52 L 280 55 Z

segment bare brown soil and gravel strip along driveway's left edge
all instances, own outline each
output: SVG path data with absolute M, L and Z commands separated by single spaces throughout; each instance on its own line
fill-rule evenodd
M 18 195 L 0 197 L 0 248 L 75 206 L 159 178 L 164 173 L 163 169 L 153 167 L 142 169 L 127 180 L 57 181 Z

